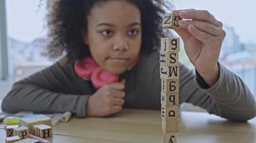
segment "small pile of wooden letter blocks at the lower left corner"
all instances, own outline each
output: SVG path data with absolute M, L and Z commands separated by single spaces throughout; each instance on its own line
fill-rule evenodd
M 52 137 L 52 119 L 42 114 L 23 117 L 19 125 L 6 127 L 6 143 L 39 142 L 36 139 L 29 139 L 29 134 L 40 138 Z

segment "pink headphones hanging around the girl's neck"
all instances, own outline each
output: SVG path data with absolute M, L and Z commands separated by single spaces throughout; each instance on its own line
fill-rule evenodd
M 138 60 L 139 56 L 134 58 L 131 66 L 135 66 Z M 76 74 L 78 74 L 78 77 L 86 80 L 91 79 L 91 82 L 96 89 L 99 89 L 105 84 L 119 81 L 119 74 L 112 74 L 109 71 L 102 69 L 92 57 L 85 57 L 81 60 L 76 60 L 75 71 Z

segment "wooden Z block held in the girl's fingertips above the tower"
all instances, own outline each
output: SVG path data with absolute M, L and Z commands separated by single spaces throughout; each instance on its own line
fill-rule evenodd
M 163 28 L 176 29 L 178 28 L 178 21 L 180 16 L 174 13 L 166 13 L 163 16 Z

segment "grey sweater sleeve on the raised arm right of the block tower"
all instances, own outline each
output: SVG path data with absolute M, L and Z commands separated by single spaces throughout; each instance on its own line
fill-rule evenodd
M 188 69 L 183 70 L 183 74 L 185 73 L 186 76 L 181 76 L 183 77 L 181 83 L 190 89 L 190 93 L 184 93 L 186 94 L 185 102 L 202 107 L 210 114 L 234 121 L 246 121 L 255 117 L 255 98 L 250 89 L 242 82 L 242 79 L 222 64 L 219 64 L 219 79 L 211 87 L 197 72 L 196 76 L 189 74 Z M 193 82 L 196 84 L 192 85 Z

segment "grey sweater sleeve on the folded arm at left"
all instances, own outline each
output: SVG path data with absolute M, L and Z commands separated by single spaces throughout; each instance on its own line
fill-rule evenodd
M 3 99 L 4 112 L 66 112 L 86 116 L 91 85 L 73 72 L 73 64 L 59 62 L 17 82 Z

